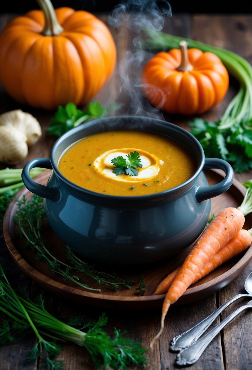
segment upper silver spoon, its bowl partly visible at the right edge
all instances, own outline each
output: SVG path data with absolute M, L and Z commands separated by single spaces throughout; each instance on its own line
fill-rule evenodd
M 241 297 L 252 297 L 252 272 L 246 278 L 244 284 L 245 290 L 248 294 L 238 294 L 235 297 L 229 299 L 225 302 L 222 306 L 220 306 L 217 310 L 203 319 L 201 322 L 193 326 L 191 329 L 187 330 L 186 332 L 177 335 L 173 338 L 171 342 L 170 349 L 173 351 L 180 351 L 181 349 L 190 346 L 190 344 L 197 341 L 197 339 L 207 330 L 207 328 L 211 325 L 211 323 L 216 319 L 216 317 L 231 303 L 235 302 L 236 299 Z

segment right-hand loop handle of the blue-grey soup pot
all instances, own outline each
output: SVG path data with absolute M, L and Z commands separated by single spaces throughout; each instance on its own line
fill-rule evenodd
M 222 169 L 225 171 L 226 175 L 224 179 L 218 184 L 210 186 L 199 186 L 195 192 L 195 197 L 198 203 L 224 193 L 232 185 L 234 179 L 234 171 L 228 162 L 224 161 L 224 159 L 219 158 L 205 158 L 203 171 L 204 169 L 210 168 Z

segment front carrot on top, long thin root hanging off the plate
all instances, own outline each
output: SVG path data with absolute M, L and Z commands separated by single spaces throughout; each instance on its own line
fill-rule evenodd
M 164 299 L 161 326 L 157 335 L 150 343 L 152 348 L 155 340 L 161 335 L 164 329 L 164 319 L 170 305 L 180 298 L 188 286 L 191 285 L 202 267 L 222 248 L 230 239 L 241 230 L 244 225 L 245 217 L 242 211 L 237 208 L 229 207 L 223 209 L 210 222 L 200 238 L 194 244 L 193 249 L 184 260 L 184 263 L 175 277 L 172 285 L 166 293 Z

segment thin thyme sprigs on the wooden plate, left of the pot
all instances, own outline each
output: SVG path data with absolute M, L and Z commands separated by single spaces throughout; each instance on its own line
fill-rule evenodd
M 105 271 L 98 271 L 94 265 L 86 263 L 78 258 L 69 246 L 65 246 L 67 252 L 66 258 L 68 263 L 62 262 L 57 257 L 52 255 L 50 246 L 47 245 L 46 240 L 41 236 L 42 220 L 45 218 L 45 209 L 42 203 L 42 198 L 33 194 L 30 200 L 25 196 L 17 199 L 17 211 L 14 215 L 14 221 L 20 228 L 20 236 L 27 240 L 26 246 L 29 246 L 35 253 L 37 260 L 47 263 L 48 267 L 53 273 L 57 273 L 70 279 L 84 289 L 100 292 L 100 289 L 94 289 L 86 284 L 79 282 L 78 276 L 71 275 L 72 270 L 76 273 L 81 272 L 92 277 L 99 285 L 104 285 L 118 291 L 120 287 L 131 289 L 133 284 L 143 285 L 143 276 L 139 279 L 121 279 L 115 273 L 108 273 Z M 71 265 L 70 265 L 71 264 Z M 137 288 L 139 290 L 139 288 Z M 139 290 L 140 295 L 143 295 L 143 290 Z

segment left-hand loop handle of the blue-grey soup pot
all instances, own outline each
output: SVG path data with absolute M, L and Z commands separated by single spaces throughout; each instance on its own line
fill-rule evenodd
M 51 161 L 49 158 L 32 159 L 24 166 L 21 174 L 24 185 L 32 193 L 57 203 L 61 198 L 60 190 L 56 187 L 53 188 L 51 186 L 41 185 L 33 181 L 33 179 L 30 176 L 30 171 L 34 167 L 52 169 Z

